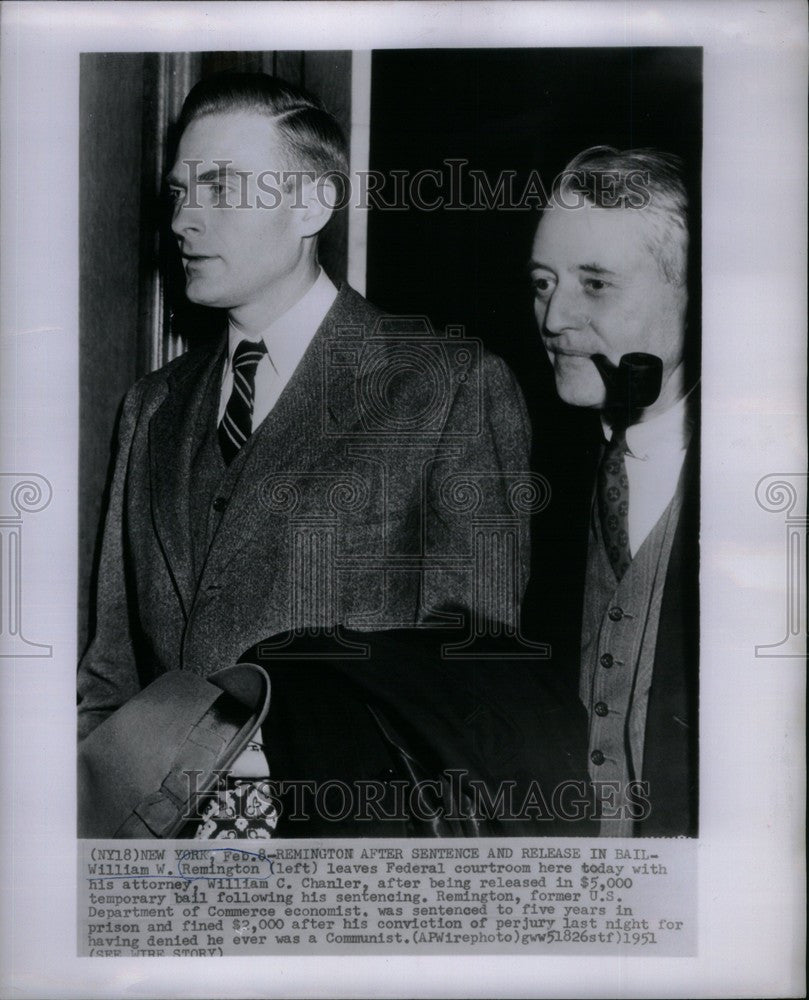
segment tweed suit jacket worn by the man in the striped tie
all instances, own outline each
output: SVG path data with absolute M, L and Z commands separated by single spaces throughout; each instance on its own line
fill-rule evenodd
M 224 337 L 135 384 L 79 665 L 80 736 L 164 671 L 207 676 L 290 628 L 376 631 L 469 608 L 475 518 L 517 539 L 499 571 L 519 601 L 528 526 L 513 497 L 529 423 L 506 365 L 468 346 L 386 320 L 343 286 L 245 446 L 202 566 L 191 469 Z

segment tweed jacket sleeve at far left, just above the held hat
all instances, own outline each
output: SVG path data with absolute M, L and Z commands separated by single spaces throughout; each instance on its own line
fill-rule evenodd
M 96 633 L 79 663 L 79 739 L 140 690 L 126 582 L 125 495 L 129 456 L 143 393 L 125 399 L 98 571 Z

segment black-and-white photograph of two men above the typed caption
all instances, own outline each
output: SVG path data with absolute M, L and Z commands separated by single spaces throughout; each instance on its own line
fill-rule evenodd
M 82 57 L 79 830 L 694 836 L 701 53 L 354 61 Z

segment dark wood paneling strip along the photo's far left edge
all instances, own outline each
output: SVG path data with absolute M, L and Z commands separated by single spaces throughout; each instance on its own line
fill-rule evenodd
M 79 646 L 121 399 L 140 374 L 141 55 L 83 55 L 79 92 Z M 91 623 L 90 623 L 91 624 Z

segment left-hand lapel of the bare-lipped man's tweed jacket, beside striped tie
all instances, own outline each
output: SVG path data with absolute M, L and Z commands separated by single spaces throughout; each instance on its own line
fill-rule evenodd
M 224 351 L 189 355 L 180 375 L 170 375 L 168 395 L 149 425 L 152 516 L 183 610 L 194 592 L 188 490 L 191 460 L 199 444 L 199 419 L 209 379 L 218 378 Z

